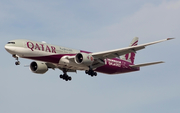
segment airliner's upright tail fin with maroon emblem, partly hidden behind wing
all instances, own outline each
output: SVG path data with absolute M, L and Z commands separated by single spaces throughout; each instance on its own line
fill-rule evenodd
M 135 38 L 132 40 L 132 42 L 130 43 L 129 46 L 130 46 L 130 47 L 131 47 L 131 46 L 137 46 L 137 45 L 138 45 L 138 40 L 139 40 L 139 38 L 138 38 L 138 37 L 135 37 Z M 122 60 L 125 60 L 125 61 L 128 61 L 128 62 L 134 64 L 135 55 L 136 55 L 135 51 L 132 52 L 132 53 L 125 54 L 125 55 L 122 56 Z

